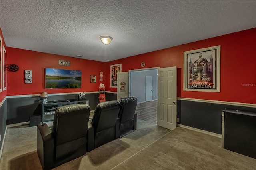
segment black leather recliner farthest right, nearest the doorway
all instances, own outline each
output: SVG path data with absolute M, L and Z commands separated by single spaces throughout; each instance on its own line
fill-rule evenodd
M 137 129 L 137 113 L 136 107 L 138 99 L 136 97 L 126 97 L 120 99 L 120 111 L 118 114 L 119 136 L 123 137 Z

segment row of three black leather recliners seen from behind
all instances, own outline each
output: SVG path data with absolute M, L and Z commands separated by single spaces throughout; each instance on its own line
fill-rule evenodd
M 137 128 L 136 106 L 135 97 L 101 102 L 92 119 L 88 104 L 56 108 L 52 131 L 47 124 L 37 126 L 37 152 L 42 168 L 52 169 L 133 132 Z

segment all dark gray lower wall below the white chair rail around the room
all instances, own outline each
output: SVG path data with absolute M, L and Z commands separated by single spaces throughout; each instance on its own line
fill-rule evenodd
M 51 102 L 53 100 L 72 99 L 78 100 L 78 94 L 49 96 L 48 102 Z M 88 93 L 86 94 L 86 99 L 89 100 L 90 110 L 94 110 L 99 103 L 99 93 Z M 116 99 L 116 93 L 106 92 L 106 101 Z M 179 118 L 178 124 L 221 134 L 221 114 L 222 110 L 224 110 L 225 108 L 256 112 L 256 108 L 177 100 L 177 117 Z M 7 100 L 2 104 L 0 110 L 0 133 L 4 134 L 6 124 L 8 125 L 28 122 L 30 116 L 40 114 L 41 108 L 39 96 L 7 98 Z M 1 136 L 1 138 L 3 137 L 4 135 Z

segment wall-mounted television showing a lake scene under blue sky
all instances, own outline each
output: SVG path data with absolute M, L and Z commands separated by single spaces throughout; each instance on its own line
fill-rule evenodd
M 45 69 L 45 88 L 81 88 L 82 71 Z

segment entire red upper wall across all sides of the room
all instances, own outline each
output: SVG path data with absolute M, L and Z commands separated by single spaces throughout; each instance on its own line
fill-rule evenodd
M 2 36 L 2 32 L 1 36 Z M 2 36 L 2 43 L 4 38 Z M 220 92 L 191 92 L 183 91 L 183 53 L 184 51 L 221 46 L 220 55 Z M 177 66 L 178 88 L 177 96 L 182 98 L 197 98 L 256 104 L 256 28 L 226 34 L 206 40 L 183 44 L 163 50 L 140 54 L 111 62 L 96 62 L 80 58 L 70 58 L 42 52 L 6 48 L 7 65 L 19 66 L 17 72 L 7 72 L 7 95 L 40 94 L 43 91 L 51 93 L 91 92 L 98 91 L 99 73 L 104 72 L 106 90 L 110 88 L 110 65 L 122 64 L 122 71 L 140 69 L 140 63 L 145 62 L 144 68 Z M 69 60 L 71 66 L 60 66 L 58 60 Z M 44 68 L 59 68 L 82 71 L 82 88 L 76 89 L 44 89 Z M 32 84 L 24 83 L 24 70 L 32 70 Z M 90 75 L 97 76 L 96 83 L 90 83 Z M 0 94 L 1 101 L 6 91 Z

